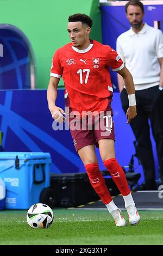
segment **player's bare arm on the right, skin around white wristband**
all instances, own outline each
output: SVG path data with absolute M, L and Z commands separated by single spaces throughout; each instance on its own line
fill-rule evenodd
M 130 96 L 133 97 L 133 95 L 135 94 L 135 88 L 134 88 L 133 77 L 131 76 L 130 72 L 125 66 L 123 69 L 118 70 L 117 72 L 119 75 L 123 77 L 124 84 L 126 86 L 126 90 L 129 97 Z M 130 106 L 129 104 L 129 108 L 127 109 L 126 116 L 127 116 L 127 124 L 129 124 L 131 119 L 136 117 L 136 103 L 134 106 Z

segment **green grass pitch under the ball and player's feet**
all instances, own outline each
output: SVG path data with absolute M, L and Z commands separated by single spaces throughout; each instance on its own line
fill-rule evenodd
M 49 229 L 30 228 L 26 212 L 0 211 L 0 245 L 163 245 L 162 210 L 139 211 L 138 225 L 116 227 L 108 210 L 53 209 Z

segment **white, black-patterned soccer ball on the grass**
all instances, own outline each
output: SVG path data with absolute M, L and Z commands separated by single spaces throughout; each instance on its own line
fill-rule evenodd
M 53 219 L 53 211 L 46 204 L 34 204 L 27 211 L 27 222 L 32 228 L 49 228 Z

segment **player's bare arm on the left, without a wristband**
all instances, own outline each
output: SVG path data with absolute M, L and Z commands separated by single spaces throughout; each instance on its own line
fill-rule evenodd
M 57 99 L 57 87 L 60 78 L 52 77 L 50 78 L 48 89 L 47 89 L 47 101 L 48 108 L 51 111 L 52 117 L 55 121 L 62 123 L 65 122 L 65 117 L 62 114 L 65 114 L 64 110 L 55 105 L 55 101 Z

